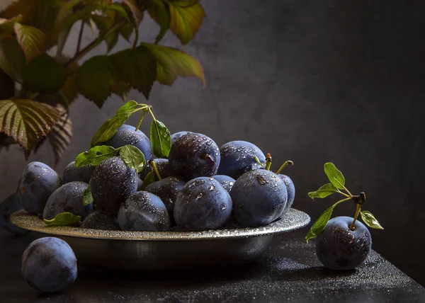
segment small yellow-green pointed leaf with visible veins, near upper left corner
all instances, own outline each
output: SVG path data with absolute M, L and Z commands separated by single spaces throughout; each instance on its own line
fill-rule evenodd
M 46 50 L 47 37 L 41 30 L 18 22 L 13 27 L 27 63 L 40 56 Z

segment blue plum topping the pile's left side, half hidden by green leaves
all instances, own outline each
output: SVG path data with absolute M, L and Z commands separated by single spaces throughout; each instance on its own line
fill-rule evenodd
M 131 125 L 123 125 L 118 128 L 118 131 L 111 139 L 103 142 L 102 145 L 108 145 L 115 149 L 124 145 L 133 145 L 140 149 L 145 159 L 149 161 L 152 158 L 151 142 L 142 131 L 137 130 L 135 132 L 135 130 L 136 128 Z

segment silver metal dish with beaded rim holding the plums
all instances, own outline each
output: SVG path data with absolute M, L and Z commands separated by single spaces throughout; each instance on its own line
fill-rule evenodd
M 12 224 L 35 237 L 57 236 L 74 250 L 79 265 L 120 270 L 181 270 L 246 263 L 261 256 L 274 234 L 305 227 L 310 217 L 290 209 L 263 227 L 211 231 L 105 231 L 80 227 L 46 227 L 25 211 Z

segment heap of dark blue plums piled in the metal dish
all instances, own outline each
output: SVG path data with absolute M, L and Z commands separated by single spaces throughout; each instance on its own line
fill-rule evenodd
M 168 158 L 154 159 L 148 137 L 122 125 L 99 145 L 137 147 L 147 165 L 137 173 L 119 156 L 97 166 L 77 168 L 73 161 L 61 178 L 46 164 L 31 162 L 16 191 L 23 209 L 47 220 L 71 212 L 81 217 L 80 227 L 90 229 L 204 231 L 269 224 L 295 198 L 293 181 L 270 171 L 266 156 L 249 142 L 219 148 L 205 135 L 177 132 Z M 143 182 L 149 172 L 154 180 Z M 93 202 L 84 205 L 88 187 Z

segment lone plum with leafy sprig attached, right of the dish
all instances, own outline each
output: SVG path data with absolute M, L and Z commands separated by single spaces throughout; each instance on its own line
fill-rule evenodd
M 314 192 L 308 193 L 310 198 L 326 198 L 333 193 L 344 195 L 323 214 L 308 231 L 306 241 L 316 239 L 316 252 L 319 261 L 333 270 L 352 270 L 361 265 L 368 256 L 372 246 L 372 237 L 365 225 L 357 220 L 361 215 L 368 227 L 383 229 L 377 219 L 368 211 L 361 210 L 365 200 L 365 193 L 352 195 L 345 186 L 345 178 L 334 164 L 324 164 L 324 172 L 330 183 L 323 185 Z M 352 200 L 356 204 L 356 214 L 351 217 L 335 217 L 331 219 L 334 208 L 341 202 Z

